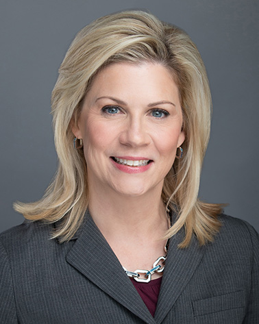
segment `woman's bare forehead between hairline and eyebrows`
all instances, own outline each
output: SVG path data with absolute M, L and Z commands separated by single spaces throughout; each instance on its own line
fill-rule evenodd
M 157 97 L 164 96 L 175 97 L 178 95 L 178 88 L 173 73 L 162 64 L 120 62 L 109 64 L 95 75 L 86 99 L 101 95 L 138 96 L 139 99 L 148 96 L 158 99 Z

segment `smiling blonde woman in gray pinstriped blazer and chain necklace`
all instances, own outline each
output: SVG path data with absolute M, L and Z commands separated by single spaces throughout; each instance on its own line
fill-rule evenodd
M 1 323 L 257 323 L 258 234 L 197 199 L 210 89 L 190 38 L 99 18 L 52 107 L 60 164 L 1 234 Z

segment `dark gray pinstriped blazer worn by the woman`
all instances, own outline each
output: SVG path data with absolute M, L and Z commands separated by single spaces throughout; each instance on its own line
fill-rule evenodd
M 72 240 L 53 225 L 23 223 L 0 236 L 0 323 L 259 323 L 259 239 L 221 216 L 213 243 L 178 249 L 170 240 L 158 306 L 147 310 L 89 214 Z

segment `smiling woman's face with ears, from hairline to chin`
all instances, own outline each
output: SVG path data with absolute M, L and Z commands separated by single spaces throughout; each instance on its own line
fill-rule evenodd
M 184 142 L 172 75 L 161 64 L 116 63 L 97 74 L 73 133 L 82 138 L 90 192 L 161 192 Z M 103 191 L 104 190 L 104 191 Z

